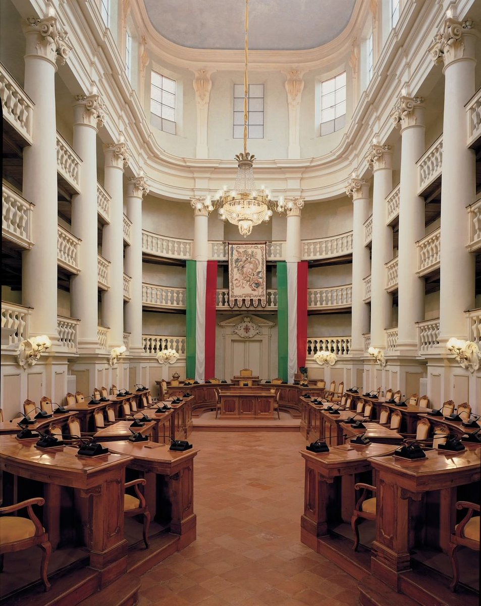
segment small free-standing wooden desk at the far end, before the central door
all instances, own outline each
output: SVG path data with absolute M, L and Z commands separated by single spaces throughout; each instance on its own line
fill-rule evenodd
M 221 395 L 221 417 L 226 419 L 273 419 L 274 401 L 276 393 L 274 388 L 230 388 L 219 390 Z

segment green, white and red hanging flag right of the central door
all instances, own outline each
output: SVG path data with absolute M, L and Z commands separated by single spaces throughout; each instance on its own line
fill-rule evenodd
M 307 261 L 277 263 L 277 372 L 292 383 L 307 355 Z

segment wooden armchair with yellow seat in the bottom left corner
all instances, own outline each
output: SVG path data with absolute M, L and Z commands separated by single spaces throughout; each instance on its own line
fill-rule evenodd
M 33 513 L 33 505 L 44 505 L 45 499 L 41 497 L 28 499 L 16 505 L 0 508 L 0 571 L 3 570 L 4 554 L 13 551 L 21 551 L 28 547 L 38 545 L 42 550 L 42 561 L 40 565 L 40 578 L 44 590 L 51 587 L 47 578 L 48 560 L 50 559 L 51 545 L 48 541 L 48 533 L 42 527 L 40 520 Z M 21 509 L 27 509 L 28 518 L 5 515 L 12 514 Z

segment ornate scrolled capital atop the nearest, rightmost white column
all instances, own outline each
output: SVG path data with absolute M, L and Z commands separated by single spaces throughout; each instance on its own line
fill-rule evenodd
M 433 38 L 431 46 L 428 48 L 431 59 L 436 65 L 449 65 L 456 59 L 469 58 L 474 52 L 473 45 L 466 48 L 466 34 L 474 33 L 473 20 L 456 21 L 449 17 L 446 19 L 441 32 Z

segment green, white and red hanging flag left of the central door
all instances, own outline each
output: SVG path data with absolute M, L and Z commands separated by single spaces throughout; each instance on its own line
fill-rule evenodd
M 187 261 L 185 376 L 216 376 L 217 261 Z

